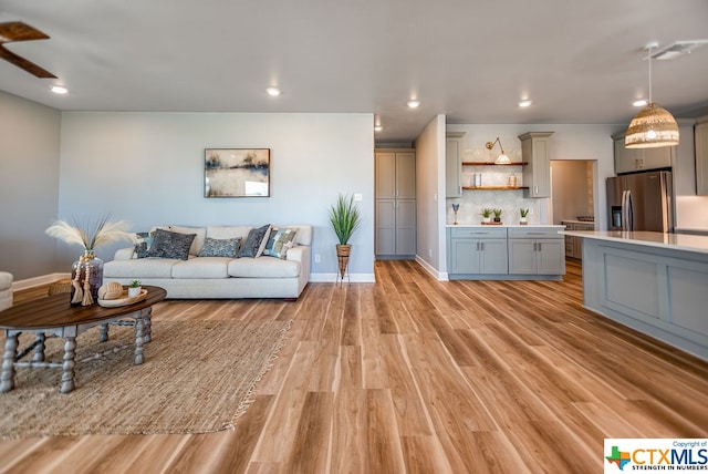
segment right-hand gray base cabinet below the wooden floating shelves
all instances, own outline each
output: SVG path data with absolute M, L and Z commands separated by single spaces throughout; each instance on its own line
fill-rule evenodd
M 565 239 L 556 229 L 510 228 L 509 274 L 565 274 Z

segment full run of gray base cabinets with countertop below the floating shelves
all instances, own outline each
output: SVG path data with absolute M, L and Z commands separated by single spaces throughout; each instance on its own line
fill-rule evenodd
M 448 225 L 450 280 L 560 280 L 565 240 L 556 225 Z

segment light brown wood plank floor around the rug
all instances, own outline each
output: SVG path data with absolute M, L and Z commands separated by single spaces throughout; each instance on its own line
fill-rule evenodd
M 600 473 L 604 437 L 708 436 L 708 363 L 584 310 L 576 265 L 561 282 L 375 271 L 296 302 L 155 308 L 295 320 L 235 431 L 1 441 L 0 472 Z

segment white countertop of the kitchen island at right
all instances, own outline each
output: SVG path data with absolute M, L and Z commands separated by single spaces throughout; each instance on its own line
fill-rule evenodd
M 636 244 L 647 247 L 671 248 L 676 250 L 708 254 L 708 236 L 649 233 L 641 230 L 563 230 L 561 234 L 596 240 L 611 240 L 623 244 Z

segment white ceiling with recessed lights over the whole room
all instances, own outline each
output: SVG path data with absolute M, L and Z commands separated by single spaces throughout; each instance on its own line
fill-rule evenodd
M 6 21 L 51 37 L 7 48 L 59 79 L 0 61 L 0 90 L 63 111 L 374 113 L 409 142 L 436 114 L 628 123 L 643 45 L 708 39 L 708 1 L 1 0 Z M 652 64 L 655 102 L 708 114 L 708 45 Z

